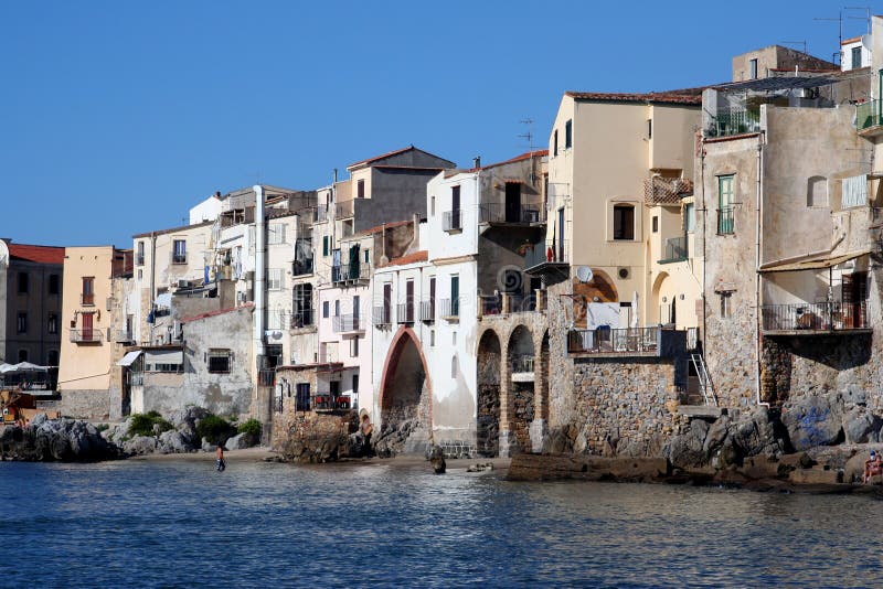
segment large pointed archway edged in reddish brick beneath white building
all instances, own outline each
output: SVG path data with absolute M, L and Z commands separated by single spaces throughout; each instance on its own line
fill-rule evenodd
M 377 442 L 394 453 L 424 453 L 430 446 L 432 382 L 419 340 L 408 328 L 393 338 L 380 388 Z

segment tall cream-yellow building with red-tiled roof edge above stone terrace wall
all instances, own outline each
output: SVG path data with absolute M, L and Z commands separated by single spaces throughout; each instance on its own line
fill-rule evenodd
M 526 271 L 546 285 L 571 280 L 614 326 L 695 326 L 702 288 L 684 196 L 701 103 L 701 89 L 565 93 L 549 143 L 545 242 Z

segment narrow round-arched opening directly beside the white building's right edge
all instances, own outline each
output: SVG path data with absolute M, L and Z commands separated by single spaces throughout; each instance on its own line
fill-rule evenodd
M 478 342 L 478 408 L 476 451 L 483 457 L 500 453 L 500 339 L 492 330 Z

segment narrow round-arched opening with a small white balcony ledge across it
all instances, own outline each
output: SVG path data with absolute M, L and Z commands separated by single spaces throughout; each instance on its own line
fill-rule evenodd
M 512 331 L 507 347 L 509 362 L 509 430 L 513 447 L 510 453 L 529 451 L 531 445 L 531 422 L 536 417 L 534 399 L 533 336 L 528 328 L 519 325 Z

